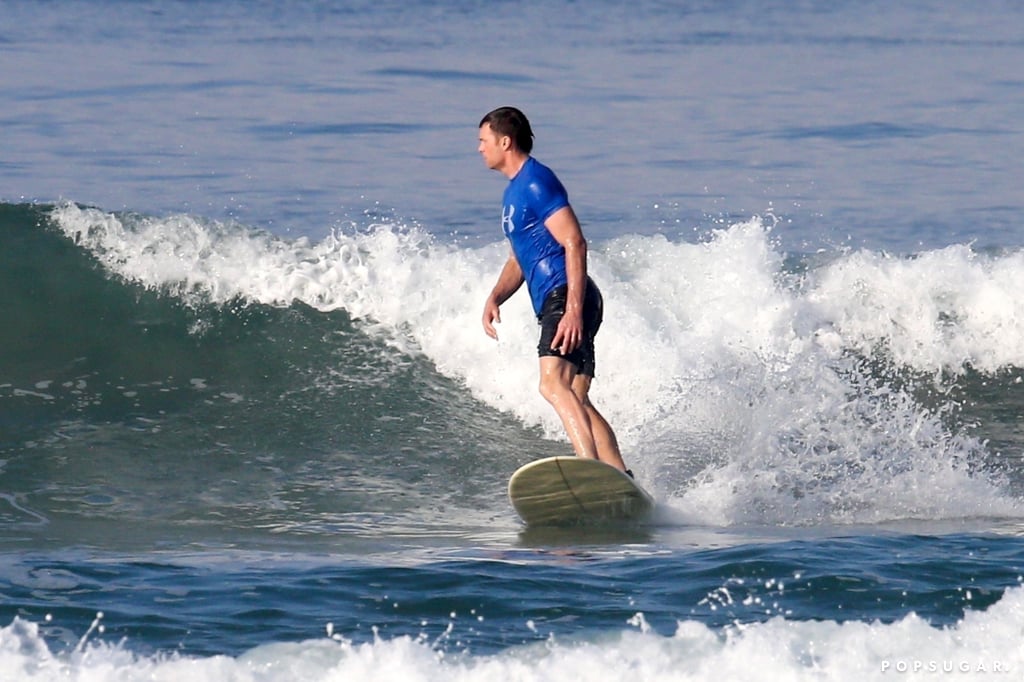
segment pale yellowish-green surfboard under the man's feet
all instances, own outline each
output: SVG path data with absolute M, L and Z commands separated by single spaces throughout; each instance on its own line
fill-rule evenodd
M 519 467 L 509 479 L 509 500 L 526 525 L 640 520 L 654 507 L 630 476 L 582 457 L 548 457 Z

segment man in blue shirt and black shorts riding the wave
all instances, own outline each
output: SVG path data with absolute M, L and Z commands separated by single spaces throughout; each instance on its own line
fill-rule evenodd
M 541 326 L 540 390 L 579 457 L 597 459 L 630 476 L 611 426 L 590 401 L 594 337 L 604 302 L 587 275 L 587 241 L 565 187 L 530 156 L 534 131 L 518 109 L 502 106 L 480 121 L 478 151 L 487 168 L 509 178 L 502 230 L 511 244 L 483 305 L 483 331 L 497 339 L 500 307 L 526 283 Z

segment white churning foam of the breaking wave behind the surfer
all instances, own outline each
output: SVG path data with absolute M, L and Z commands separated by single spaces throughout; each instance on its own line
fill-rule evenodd
M 290 242 L 71 204 L 53 217 L 112 272 L 185 299 L 343 308 L 479 400 L 562 437 L 536 389 L 526 294 L 504 306 L 497 343 L 480 330 L 503 244 L 460 248 L 383 224 Z M 1022 513 L 1004 481 L 979 473 L 982 443 L 863 360 L 936 377 L 1024 368 L 1024 303 L 1014 296 L 1024 254 L 836 254 L 797 276 L 757 218 L 698 244 L 622 237 L 591 254 L 606 298 L 595 402 L 640 479 L 683 520 Z

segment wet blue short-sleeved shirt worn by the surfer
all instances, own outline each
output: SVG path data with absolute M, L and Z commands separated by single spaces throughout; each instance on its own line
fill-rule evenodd
M 567 282 L 565 249 L 544 221 L 568 205 L 565 187 L 550 168 L 532 157 L 505 188 L 502 231 L 512 244 L 538 315 L 548 294 Z

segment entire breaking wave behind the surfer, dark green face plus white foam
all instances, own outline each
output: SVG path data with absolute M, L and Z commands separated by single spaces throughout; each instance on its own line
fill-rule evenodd
M 504 505 L 506 476 L 481 467 L 567 447 L 525 297 L 498 343 L 479 329 L 500 244 L 386 222 L 287 240 L 75 204 L 0 215 L 0 450 L 43 517 L 216 526 L 230 509 L 230 526 L 316 532 L 376 496 L 430 524 L 414 510 L 442 480 L 473 523 Z M 1021 252 L 792 256 L 752 219 L 696 244 L 596 244 L 591 270 L 608 308 L 594 398 L 667 522 L 1020 514 Z M 321 506 L 289 503 L 311 493 Z

